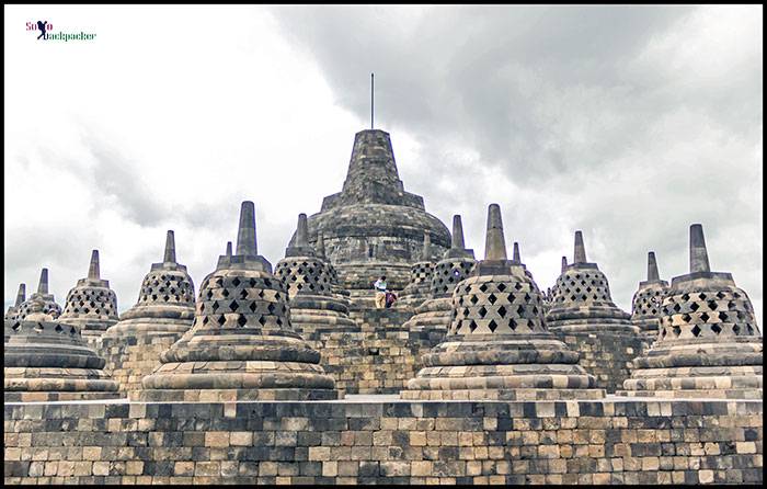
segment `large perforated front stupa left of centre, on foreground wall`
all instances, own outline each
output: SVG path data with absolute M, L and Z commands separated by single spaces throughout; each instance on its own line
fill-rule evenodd
M 234 254 L 201 285 L 192 329 L 160 356 L 133 399 L 336 399 L 333 378 L 290 323 L 288 293 L 257 252 L 255 212 L 243 202 Z

